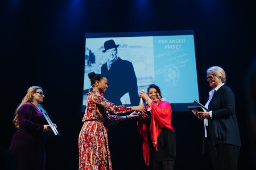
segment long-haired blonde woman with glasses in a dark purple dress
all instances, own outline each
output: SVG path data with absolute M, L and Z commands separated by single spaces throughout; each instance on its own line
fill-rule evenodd
M 46 169 L 44 143 L 46 132 L 51 131 L 51 127 L 47 125 L 42 113 L 44 109 L 40 103 L 43 99 L 42 88 L 32 86 L 16 108 L 13 122 L 18 130 L 14 133 L 8 150 L 15 160 L 15 169 Z

